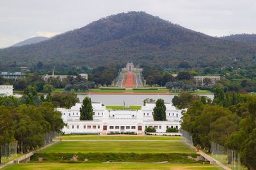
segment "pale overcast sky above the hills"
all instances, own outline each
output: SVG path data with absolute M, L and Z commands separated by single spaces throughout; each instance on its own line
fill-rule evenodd
M 0 48 L 145 11 L 211 36 L 256 33 L 256 0 L 0 0 Z

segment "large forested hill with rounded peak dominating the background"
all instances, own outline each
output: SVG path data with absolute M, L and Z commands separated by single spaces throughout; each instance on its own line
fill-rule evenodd
M 47 41 L 0 50 L 0 69 L 35 66 L 194 67 L 255 64 L 256 45 L 213 38 L 144 12 L 111 15 Z

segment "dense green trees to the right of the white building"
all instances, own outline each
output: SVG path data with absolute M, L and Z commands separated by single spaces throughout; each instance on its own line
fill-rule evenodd
M 193 143 L 210 148 L 211 141 L 241 153 L 248 169 L 256 168 L 256 97 L 216 90 L 214 101 L 194 99 L 182 117 L 182 129 L 191 132 Z

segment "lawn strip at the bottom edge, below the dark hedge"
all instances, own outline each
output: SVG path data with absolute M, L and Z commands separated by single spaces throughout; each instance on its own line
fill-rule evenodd
M 197 170 L 217 170 L 220 167 L 204 164 L 64 164 L 64 163 L 28 163 L 28 164 L 13 164 L 4 168 L 4 170 L 76 170 L 76 169 L 197 169 Z

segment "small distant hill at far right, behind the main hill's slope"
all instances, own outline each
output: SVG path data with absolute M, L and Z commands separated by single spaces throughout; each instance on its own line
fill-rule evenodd
M 230 36 L 223 36 L 221 39 L 228 39 L 233 41 L 243 41 L 256 44 L 256 34 L 234 34 Z

